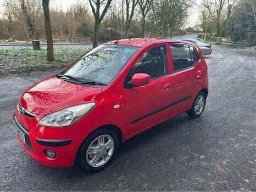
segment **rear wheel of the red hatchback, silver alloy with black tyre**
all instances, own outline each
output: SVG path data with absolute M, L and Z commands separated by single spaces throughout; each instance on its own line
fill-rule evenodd
M 189 111 L 187 111 L 187 114 L 190 115 L 192 118 L 199 117 L 205 107 L 205 101 L 206 101 L 206 95 L 203 92 L 200 92 L 196 99 L 194 99 L 194 103 Z

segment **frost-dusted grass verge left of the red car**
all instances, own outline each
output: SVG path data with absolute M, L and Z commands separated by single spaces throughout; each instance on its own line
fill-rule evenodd
M 54 61 L 47 61 L 47 49 L 32 48 L 0 49 L 0 76 L 29 71 L 62 69 L 70 65 L 88 47 L 55 47 Z

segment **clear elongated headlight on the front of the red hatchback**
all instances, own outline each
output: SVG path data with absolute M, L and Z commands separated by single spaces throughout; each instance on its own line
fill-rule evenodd
M 43 117 L 39 124 L 50 127 L 68 126 L 87 114 L 94 105 L 94 103 L 86 103 L 53 112 L 52 114 Z

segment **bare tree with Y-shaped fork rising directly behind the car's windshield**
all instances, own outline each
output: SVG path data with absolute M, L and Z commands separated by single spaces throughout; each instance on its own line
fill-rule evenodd
M 111 2 L 112 0 L 89 0 L 94 16 L 93 48 L 98 46 L 99 25 L 107 13 Z M 102 13 L 100 13 L 101 8 L 103 8 Z

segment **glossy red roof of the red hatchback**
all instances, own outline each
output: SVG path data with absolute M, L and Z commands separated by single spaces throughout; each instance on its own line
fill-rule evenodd
M 115 41 L 110 41 L 105 44 L 117 44 L 123 46 L 135 46 L 135 47 L 143 47 L 149 46 L 151 44 L 158 43 L 187 43 L 187 41 L 177 40 L 177 39 L 157 39 L 157 38 L 129 38 L 129 39 L 120 39 Z

